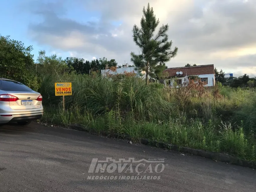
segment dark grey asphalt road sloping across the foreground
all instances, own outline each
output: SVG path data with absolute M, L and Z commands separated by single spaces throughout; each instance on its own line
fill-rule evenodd
M 136 180 L 119 179 L 119 176 L 136 176 L 131 170 L 107 173 L 100 168 L 99 171 L 105 172 L 95 173 L 93 169 L 93 173 L 88 173 L 92 158 L 106 160 L 107 157 L 116 160 L 163 158 L 164 170 L 156 173 L 152 163 L 152 173 L 148 173 L 149 169 L 140 173 Z M 133 171 L 136 165 L 132 164 Z M 137 171 L 140 170 L 143 168 Z M 145 175 L 160 178 L 140 178 Z M 102 179 L 92 180 L 88 176 L 102 176 Z M 117 179 L 109 176 L 117 176 Z M 25 127 L 9 124 L 0 126 L 0 192 L 7 191 L 255 192 L 256 170 L 80 131 L 37 123 Z

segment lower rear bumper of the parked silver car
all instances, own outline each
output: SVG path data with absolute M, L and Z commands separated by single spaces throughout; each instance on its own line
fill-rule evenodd
M 10 116 L 10 117 L 0 116 L 0 123 L 9 123 L 9 122 L 18 122 L 18 121 L 32 121 L 32 120 L 40 119 L 42 116 L 43 116 L 43 112 L 13 115 L 13 116 Z

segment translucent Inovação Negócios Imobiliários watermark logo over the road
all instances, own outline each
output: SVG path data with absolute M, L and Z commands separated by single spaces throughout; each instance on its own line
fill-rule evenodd
M 163 158 L 140 160 L 135 160 L 134 158 L 128 158 L 127 160 L 122 158 L 115 160 L 108 157 L 106 160 L 102 161 L 98 160 L 98 158 L 93 158 L 88 170 L 87 179 L 159 180 L 159 174 L 163 171 Z M 99 176 L 99 174 L 101 175 Z

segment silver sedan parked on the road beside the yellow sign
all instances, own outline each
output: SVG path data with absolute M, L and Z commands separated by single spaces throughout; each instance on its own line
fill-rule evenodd
M 42 115 L 40 93 L 18 81 L 0 77 L 0 123 L 27 125 Z

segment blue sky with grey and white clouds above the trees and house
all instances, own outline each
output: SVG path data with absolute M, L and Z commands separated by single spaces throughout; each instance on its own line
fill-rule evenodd
M 119 64 L 139 52 L 132 27 L 153 7 L 178 54 L 168 67 L 214 64 L 256 76 L 256 0 L 9 0 L 1 2 L 1 35 L 38 51 Z

